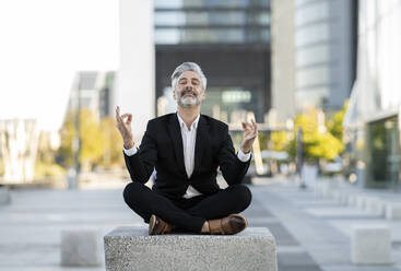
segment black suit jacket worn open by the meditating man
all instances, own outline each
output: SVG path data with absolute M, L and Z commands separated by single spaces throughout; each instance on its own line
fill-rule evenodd
M 250 160 L 241 162 L 235 154 L 228 127 L 222 121 L 200 115 L 194 146 L 194 167 L 190 178 L 184 164 L 182 138 L 177 114 L 168 114 L 148 122 L 139 151 L 125 160 L 132 181 L 146 182 L 153 168 L 153 190 L 178 199 L 189 185 L 204 195 L 220 190 L 217 167 L 228 185 L 241 182 Z

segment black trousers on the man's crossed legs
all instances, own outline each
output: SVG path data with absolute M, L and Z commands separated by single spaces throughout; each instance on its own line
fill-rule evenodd
M 123 199 L 145 223 L 155 214 L 177 229 L 200 233 L 207 220 L 222 219 L 247 209 L 251 192 L 245 185 L 233 185 L 210 196 L 172 200 L 145 185 L 130 182 L 123 190 Z

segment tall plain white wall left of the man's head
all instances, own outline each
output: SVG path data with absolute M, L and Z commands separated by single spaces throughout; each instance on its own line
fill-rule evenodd
M 140 140 L 155 111 L 155 46 L 153 1 L 120 0 L 120 56 L 115 104 L 132 114 L 132 132 Z

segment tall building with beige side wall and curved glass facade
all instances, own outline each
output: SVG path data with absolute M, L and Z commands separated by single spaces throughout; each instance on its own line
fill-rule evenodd
M 272 0 L 272 94 L 280 120 L 337 110 L 355 80 L 356 1 Z

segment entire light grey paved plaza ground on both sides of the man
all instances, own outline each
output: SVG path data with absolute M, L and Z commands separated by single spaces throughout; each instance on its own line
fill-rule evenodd
M 401 221 L 386 221 L 358 209 L 316 198 L 285 179 L 262 179 L 251 186 L 249 226 L 266 226 L 276 238 L 280 271 L 400 271 Z M 121 225 L 145 225 L 126 207 L 122 185 L 103 190 L 13 189 L 12 203 L 0 205 L 0 270 L 105 270 L 60 267 L 60 232 L 97 228 L 103 234 Z M 391 266 L 351 263 L 350 227 L 387 224 L 392 234 Z

